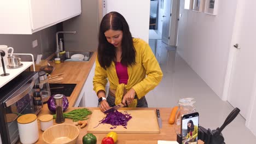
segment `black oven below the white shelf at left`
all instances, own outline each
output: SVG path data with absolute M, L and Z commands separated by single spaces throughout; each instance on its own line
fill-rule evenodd
M 38 114 L 42 109 L 37 72 L 24 71 L 0 88 L 0 134 L 2 143 L 19 140 L 17 118 L 27 113 Z

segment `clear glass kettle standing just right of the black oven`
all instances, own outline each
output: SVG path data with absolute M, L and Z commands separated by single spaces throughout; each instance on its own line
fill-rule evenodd
M 48 78 L 44 71 L 39 71 L 38 74 L 39 74 L 40 85 L 42 86 L 42 88 L 40 89 L 42 93 L 42 101 L 43 101 L 43 104 L 46 104 L 51 96 Z

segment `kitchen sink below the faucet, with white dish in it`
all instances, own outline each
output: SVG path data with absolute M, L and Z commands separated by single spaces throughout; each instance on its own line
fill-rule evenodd
M 75 54 L 82 54 L 85 56 L 85 58 L 83 59 L 83 61 L 79 59 L 71 59 L 71 56 Z M 92 54 L 94 54 L 94 52 L 92 51 L 66 51 L 66 61 L 88 62 L 90 61 Z

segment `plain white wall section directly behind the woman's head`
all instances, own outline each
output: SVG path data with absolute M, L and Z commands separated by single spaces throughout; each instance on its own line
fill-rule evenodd
M 103 8 L 103 13 L 117 11 L 125 17 L 132 37 L 141 38 L 148 43 L 150 1 L 105 0 L 105 2 L 106 8 Z

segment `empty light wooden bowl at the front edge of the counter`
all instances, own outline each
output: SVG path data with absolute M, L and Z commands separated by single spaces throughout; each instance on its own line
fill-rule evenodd
M 43 133 L 45 143 L 75 143 L 79 136 L 79 129 L 72 124 L 56 124 Z

